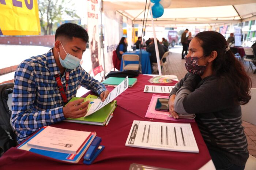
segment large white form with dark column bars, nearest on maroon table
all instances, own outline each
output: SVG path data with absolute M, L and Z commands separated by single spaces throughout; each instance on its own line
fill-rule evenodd
M 125 146 L 199 152 L 190 124 L 133 121 Z

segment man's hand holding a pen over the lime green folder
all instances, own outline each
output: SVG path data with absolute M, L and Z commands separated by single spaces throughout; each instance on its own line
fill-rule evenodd
M 83 117 L 87 113 L 88 105 L 90 101 L 82 103 L 84 99 L 78 99 L 76 101 L 69 102 L 63 107 L 63 114 L 65 118 L 79 118 Z

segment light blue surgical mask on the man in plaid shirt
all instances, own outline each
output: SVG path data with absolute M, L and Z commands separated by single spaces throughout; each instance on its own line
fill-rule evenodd
M 61 42 L 60 42 L 60 44 L 61 44 Z M 61 46 L 64 49 L 62 44 L 61 44 Z M 67 54 L 64 60 L 61 59 L 60 53 L 58 52 L 59 58 L 60 58 L 60 64 L 62 65 L 62 67 L 65 67 L 65 68 L 68 68 L 68 69 L 75 69 L 76 67 L 78 67 L 79 64 L 80 64 L 81 59 L 67 53 L 65 49 L 64 49 L 64 51 Z

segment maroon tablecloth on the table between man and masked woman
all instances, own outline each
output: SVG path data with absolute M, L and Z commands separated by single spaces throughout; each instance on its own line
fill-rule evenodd
M 32 152 L 11 148 L 0 158 L 0 169 L 128 170 L 131 163 L 177 170 L 199 169 L 206 164 L 211 157 L 196 123 L 190 124 L 195 135 L 199 153 L 161 151 L 125 146 L 133 120 L 150 121 L 149 118 L 145 118 L 145 114 L 152 93 L 143 92 L 144 85 L 150 85 L 148 79 L 150 79 L 150 76 L 139 75 L 138 82 L 135 86 L 128 88 L 123 94 L 116 98 L 117 107 L 108 126 L 84 125 L 71 122 L 59 122 L 52 125 L 59 128 L 96 131 L 97 136 L 102 138 L 101 144 L 105 146 L 105 149 L 95 159 L 92 165 L 84 165 L 82 159 L 79 163 L 72 164 L 37 155 Z M 174 84 L 175 82 L 158 85 L 170 86 Z M 108 89 L 110 91 L 113 90 L 112 87 L 108 87 Z M 157 119 L 153 121 L 172 122 Z M 173 123 L 184 122 L 173 121 Z

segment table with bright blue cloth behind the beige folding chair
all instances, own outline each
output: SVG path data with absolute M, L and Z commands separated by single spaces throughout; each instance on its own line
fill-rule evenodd
M 132 51 L 132 52 L 125 52 L 124 54 L 137 54 L 138 56 L 140 55 L 140 51 L 136 50 L 136 51 Z M 141 59 L 140 59 L 140 64 L 142 67 L 142 73 L 143 74 L 151 74 L 151 64 L 150 64 L 150 58 L 149 58 L 150 53 L 148 53 L 146 50 L 142 50 L 142 55 L 141 55 Z M 125 64 L 127 63 L 136 63 L 138 64 L 138 62 L 134 62 L 134 61 L 125 61 Z M 121 71 L 123 71 L 123 59 L 121 60 L 121 67 L 120 67 Z

